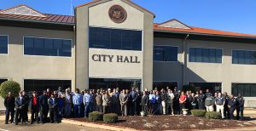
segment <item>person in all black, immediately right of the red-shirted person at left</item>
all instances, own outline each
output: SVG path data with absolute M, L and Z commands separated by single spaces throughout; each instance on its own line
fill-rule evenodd
M 40 111 L 40 121 L 41 123 L 44 123 L 47 121 L 47 116 L 48 116 L 48 96 L 46 95 L 46 91 L 43 92 L 43 94 L 39 98 L 39 105 L 41 107 Z

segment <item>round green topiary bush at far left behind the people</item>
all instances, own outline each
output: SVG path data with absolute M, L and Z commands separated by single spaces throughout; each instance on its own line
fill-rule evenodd
M 0 95 L 5 98 L 8 96 L 8 93 L 11 92 L 13 96 L 18 96 L 20 92 L 20 83 L 15 81 L 6 81 L 0 85 Z

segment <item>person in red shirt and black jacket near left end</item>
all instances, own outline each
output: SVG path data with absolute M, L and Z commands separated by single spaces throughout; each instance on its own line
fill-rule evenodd
M 31 124 L 36 120 L 38 122 L 38 111 L 39 111 L 39 97 L 37 92 L 33 92 L 32 98 L 30 100 L 30 110 L 31 110 Z

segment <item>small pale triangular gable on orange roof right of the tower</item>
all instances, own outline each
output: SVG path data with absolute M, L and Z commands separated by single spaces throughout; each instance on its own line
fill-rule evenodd
M 160 26 L 160 27 L 178 28 L 178 29 L 190 29 L 191 30 L 191 28 L 189 26 L 186 26 L 182 22 L 180 22 L 178 20 L 175 20 L 175 19 L 168 20 L 166 22 L 160 23 L 158 26 Z

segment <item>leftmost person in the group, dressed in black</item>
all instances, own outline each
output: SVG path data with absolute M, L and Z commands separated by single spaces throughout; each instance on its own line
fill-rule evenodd
M 12 96 L 12 93 L 9 92 L 8 96 L 4 99 L 5 111 L 5 124 L 9 122 L 9 112 L 11 114 L 10 122 L 14 122 L 15 118 L 15 97 Z

